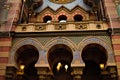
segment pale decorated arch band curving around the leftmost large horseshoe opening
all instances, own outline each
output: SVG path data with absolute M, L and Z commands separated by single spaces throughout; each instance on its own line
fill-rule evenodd
M 40 51 L 43 49 L 42 44 L 37 39 L 34 39 L 34 38 L 30 38 L 30 37 L 23 38 L 23 39 L 18 40 L 12 46 L 11 51 L 10 51 L 8 64 L 14 65 L 16 68 L 18 68 L 17 64 L 16 64 L 17 50 L 19 50 L 22 46 L 25 46 L 25 45 L 34 46 L 35 50 L 38 51 L 39 56 L 40 56 Z M 38 59 L 38 61 L 36 63 L 39 63 L 39 60 L 40 59 Z

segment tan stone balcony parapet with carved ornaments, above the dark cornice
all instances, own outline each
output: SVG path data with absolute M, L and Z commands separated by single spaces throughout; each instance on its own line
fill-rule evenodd
M 47 32 L 47 31 L 87 31 L 107 30 L 108 24 L 101 21 L 66 22 L 66 23 L 29 23 L 20 24 L 15 32 Z

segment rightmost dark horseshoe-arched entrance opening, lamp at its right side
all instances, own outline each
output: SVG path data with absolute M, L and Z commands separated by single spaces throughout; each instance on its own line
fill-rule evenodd
M 89 44 L 82 51 L 82 59 L 85 62 L 82 80 L 102 80 L 101 70 L 107 62 L 107 52 L 98 44 Z

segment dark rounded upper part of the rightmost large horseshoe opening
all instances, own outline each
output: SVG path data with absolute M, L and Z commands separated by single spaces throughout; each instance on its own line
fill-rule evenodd
M 85 63 L 88 61 L 93 61 L 97 64 L 106 65 L 108 55 L 106 49 L 95 43 L 86 45 L 82 50 L 82 59 Z

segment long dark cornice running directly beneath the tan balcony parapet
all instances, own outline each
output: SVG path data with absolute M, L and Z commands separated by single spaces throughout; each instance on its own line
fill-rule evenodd
M 13 37 L 109 36 L 111 31 L 11 32 Z

